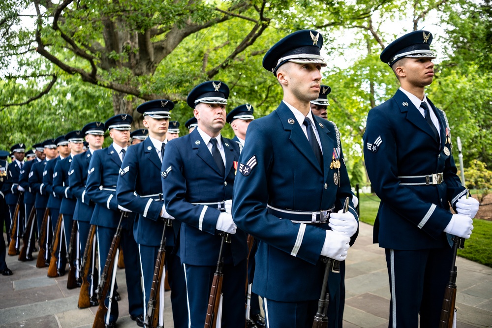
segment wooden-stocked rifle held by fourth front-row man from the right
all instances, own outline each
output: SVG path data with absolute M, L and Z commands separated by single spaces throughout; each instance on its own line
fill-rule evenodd
M 154 276 L 152 278 L 151 294 L 149 296 L 149 302 L 147 303 L 147 314 L 145 316 L 145 322 L 147 328 L 159 327 L 159 304 L 160 304 L 160 287 L 162 273 L 164 272 L 164 260 L 166 258 L 166 226 L 171 226 L 172 221 L 170 219 L 164 220 L 164 229 L 162 229 L 162 237 L 160 239 L 160 246 L 157 252 L 157 259 L 155 260 Z

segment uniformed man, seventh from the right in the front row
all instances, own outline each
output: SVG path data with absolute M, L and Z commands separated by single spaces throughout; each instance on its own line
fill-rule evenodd
M 77 200 L 70 190 L 68 179 L 71 175 L 70 166 L 72 165 L 73 156 L 82 152 L 84 142 L 82 131 L 71 131 L 65 135 L 65 140 L 68 141 L 68 149 L 70 153 L 63 159 L 59 160 L 55 165 L 53 172 L 53 191 L 62 199 L 60 205 L 60 214 L 62 214 L 63 226 L 62 236 L 63 242 L 60 240 L 59 246 L 62 246 L 62 268 L 66 264 L 66 254 L 70 245 L 70 237 L 72 235 L 73 213 Z M 75 236 L 77 238 L 77 236 Z M 72 263 L 71 265 L 75 265 Z M 64 269 L 62 269 L 64 271 Z

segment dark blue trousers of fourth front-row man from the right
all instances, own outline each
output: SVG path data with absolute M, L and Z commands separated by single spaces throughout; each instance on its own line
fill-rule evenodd
M 159 246 L 138 245 L 140 250 L 140 261 L 142 265 L 142 278 L 144 281 L 145 313 L 147 314 L 147 304 L 149 303 L 152 280 L 154 278 L 155 261 Z M 188 310 L 186 303 L 186 282 L 184 280 L 184 270 L 181 259 L 177 254 L 173 254 L 173 247 L 166 247 L 166 258 L 164 264 L 167 269 L 167 280 L 171 287 L 171 304 L 173 309 L 173 321 L 175 328 L 188 327 Z M 161 299 L 161 301 L 163 301 Z

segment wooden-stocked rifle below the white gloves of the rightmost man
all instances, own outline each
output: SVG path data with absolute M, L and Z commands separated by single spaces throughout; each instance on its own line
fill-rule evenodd
M 449 271 L 449 281 L 444 290 L 444 298 L 442 300 L 441 317 L 439 318 L 439 328 L 452 328 L 453 318 L 455 315 L 456 304 L 456 276 L 458 269 L 456 268 L 456 255 L 458 248 L 464 248 L 464 238 L 453 238 L 453 261 L 451 270 Z

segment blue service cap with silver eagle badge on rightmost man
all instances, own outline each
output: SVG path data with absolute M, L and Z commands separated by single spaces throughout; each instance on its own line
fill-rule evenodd
M 436 57 L 431 52 L 431 42 L 431 32 L 424 30 L 413 31 L 391 42 L 384 48 L 379 58 L 390 67 L 404 57 L 434 59 Z

